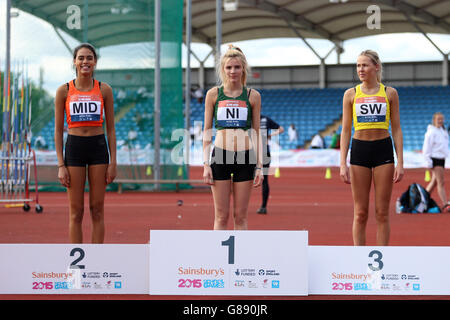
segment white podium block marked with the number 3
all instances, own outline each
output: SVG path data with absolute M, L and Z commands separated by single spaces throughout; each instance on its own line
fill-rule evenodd
M 449 247 L 309 247 L 309 294 L 449 295 Z

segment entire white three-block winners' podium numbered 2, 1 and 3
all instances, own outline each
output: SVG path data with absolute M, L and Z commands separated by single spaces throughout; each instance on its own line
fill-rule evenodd
M 450 247 L 308 246 L 307 231 L 1 244 L 0 294 L 450 295 Z

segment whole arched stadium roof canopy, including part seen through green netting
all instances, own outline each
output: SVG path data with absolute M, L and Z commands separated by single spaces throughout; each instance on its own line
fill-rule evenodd
M 164 1 L 164 0 L 162 0 Z M 221 0 L 224 3 L 235 0 Z M 67 26 L 70 5 L 84 10 L 88 33 Z M 185 6 L 186 6 L 186 1 Z M 72 37 L 97 47 L 148 41 L 146 0 L 12 0 L 15 8 L 33 14 Z M 380 29 L 368 28 L 376 5 Z M 184 10 L 185 12 L 186 10 Z M 184 13 L 186 14 L 186 13 Z M 192 0 L 192 41 L 216 43 L 216 1 Z M 82 22 L 83 23 L 83 22 Z M 235 11 L 222 14 L 222 43 L 261 38 L 316 38 L 336 44 L 357 37 L 402 32 L 450 34 L 448 0 L 239 0 Z

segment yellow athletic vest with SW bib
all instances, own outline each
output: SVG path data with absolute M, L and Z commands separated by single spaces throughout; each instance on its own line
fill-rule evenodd
M 388 130 L 390 115 L 389 99 L 382 83 L 380 83 L 380 90 L 370 95 L 361 91 L 361 85 L 356 86 L 356 95 L 353 101 L 353 126 L 355 130 Z

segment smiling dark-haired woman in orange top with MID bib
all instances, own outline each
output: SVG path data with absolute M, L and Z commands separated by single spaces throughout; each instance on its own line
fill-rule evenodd
M 93 46 L 83 43 L 75 48 L 73 63 L 76 79 L 60 86 L 55 97 L 58 178 L 69 195 L 69 240 L 82 243 L 87 166 L 92 243 L 103 243 L 106 185 L 114 180 L 117 170 L 113 92 L 108 84 L 93 78 L 97 64 Z M 64 113 L 68 136 L 63 155 Z M 103 131 L 103 114 L 108 141 Z

